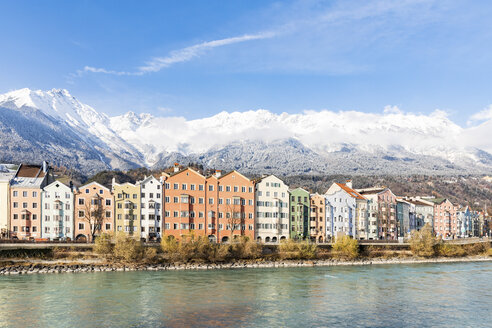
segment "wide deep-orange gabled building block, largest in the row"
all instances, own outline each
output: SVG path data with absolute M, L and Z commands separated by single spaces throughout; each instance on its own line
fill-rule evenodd
M 192 168 L 163 174 L 163 236 L 254 238 L 253 182 L 236 171 L 205 177 Z

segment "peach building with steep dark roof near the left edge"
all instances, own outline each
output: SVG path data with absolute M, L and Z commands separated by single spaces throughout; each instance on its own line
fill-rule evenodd
M 10 186 L 10 236 L 41 238 L 41 191 L 54 178 L 48 163 L 21 164 Z

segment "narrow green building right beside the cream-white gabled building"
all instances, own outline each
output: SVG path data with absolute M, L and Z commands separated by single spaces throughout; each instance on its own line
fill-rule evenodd
M 290 191 L 290 238 L 302 240 L 309 237 L 309 192 L 297 188 Z

